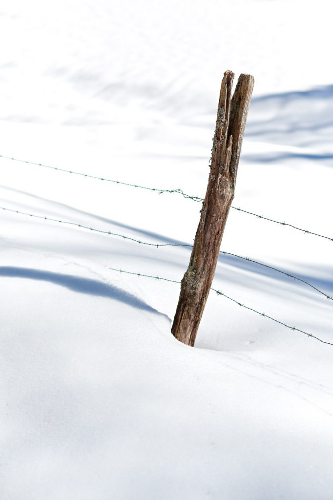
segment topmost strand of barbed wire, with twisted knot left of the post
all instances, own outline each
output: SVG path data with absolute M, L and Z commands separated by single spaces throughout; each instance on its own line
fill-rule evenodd
M 106 182 L 112 182 L 112 183 L 115 183 L 115 184 L 120 184 L 120 185 L 125 185 L 125 186 L 137 187 L 139 189 L 145 189 L 145 190 L 148 190 L 148 191 L 155 191 L 155 192 L 158 192 L 159 194 L 162 194 L 164 192 L 178 193 L 178 194 L 181 194 L 181 196 L 183 196 L 184 198 L 186 198 L 186 199 L 192 199 L 193 201 L 203 201 L 203 199 L 204 199 L 204 198 L 200 198 L 199 196 L 191 196 L 189 194 L 186 194 L 185 192 L 183 192 L 182 189 L 179 189 L 179 188 L 178 189 L 159 189 L 159 188 L 156 188 L 156 187 L 141 186 L 139 184 L 131 184 L 129 182 L 123 182 L 123 181 L 116 180 L 116 179 L 108 179 L 108 178 L 105 178 L 105 177 L 99 177 L 97 175 L 90 175 L 88 173 L 77 172 L 77 171 L 74 171 L 74 170 L 67 170 L 65 168 L 59 168 L 59 167 L 56 167 L 56 166 L 50 166 L 50 165 L 46 165 L 44 163 L 38 163 L 38 162 L 35 162 L 35 161 L 28 161 L 28 160 L 24 160 L 24 159 L 18 159 L 18 158 L 14 158 L 12 156 L 5 156 L 3 154 L 0 154 L 0 158 L 10 159 L 10 160 L 13 160 L 13 161 L 19 161 L 21 163 L 27 163 L 27 164 L 30 164 L 30 165 L 42 166 L 42 167 L 45 167 L 45 168 L 50 168 L 52 170 L 58 170 L 60 172 L 66 172 L 66 173 L 72 173 L 72 174 L 75 174 L 75 175 L 80 175 L 82 177 L 88 177 L 88 178 L 92 178 L 92 179 L 103 180 L 103 181 L 106 181 Z M 250 212 L 248 210 L 244 210 L 243 208 L 236 207 L 236 206 L 233 206 L 233 205 L 231 205 L 231 208 L 234 209 L 234 210 L 237 210 L 238 212 L 247 213 L 248 215 L 253 215 L 254 217 L 258 217 L 259 219 L 267 220 L 269 222 L 273 222 L 275 224 L 279 224 L 279 225 L 282 225 L 282 226 L 291 227 L 293 229 L 301 231 L 304 234 L 312 234 L 313 236 L 318 236 L 320 238 L 324 238 L 324 239 L 328 239 L 330 241 L 333 241 L 333 237 L 325 236 L 323 234 L 319 234 L 317 232 L 310 231 L 308 229 L 302 229 L 301 227 L 298 227 L 298 226 L 293 225 L 293 224 L 289 224 L 287 222 L 281 222 L 279 220 L 275 220 L 275 219 L 272 219 L 272 218 L 269 218 L 269 217 L 265 217 L 263 215 L 259 215 L 257 213 L 253 213 L 253 212 Z

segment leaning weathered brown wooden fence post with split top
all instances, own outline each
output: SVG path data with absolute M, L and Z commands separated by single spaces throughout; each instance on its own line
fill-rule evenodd
M 219 94 L 207 191 L 202 203 L 188 268 L 171 331 L 194 345 L 196 332 L 214 276 L 219 247 L 234 196 L 237 167 L 254 79 L 241 74 L 231 98 L 232 71 L 225 71 Z

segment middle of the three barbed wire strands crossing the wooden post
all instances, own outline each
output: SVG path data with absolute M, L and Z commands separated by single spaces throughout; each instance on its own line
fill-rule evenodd
M 140 243 L 140 244 L 143 244 L 143 245 L 155 246 L 156 248 L 158 248 L 159 246 L 186 246 L 186 247 L 189 247 L 189 248 L 193 247 L 193 245 L 190 245 L 188 243 L 148 243 L 146 241 L 141 241 L 139 239 L 135 239 L 135 238 L 131 238 L 129 236 L 125 236 L 124 234 L 119 234 L 119 233 L 115 233 L 115 232 L 111 232 L 111 231 L 105 231 L 105 230 L 102 230 L 102 229 L 96 229 L 95 227 L 90 227 L 90 226 L 86 226 L 86 225 L 83 225 L 83 224 L 78 224 L 77 222 L 69 222 L 69 221 L 60 220 L 60 219 L 54 219 L 54 218 L 46 217 L 46 216 L 43 216 L 43 215 L 35 215 L 35 214 L 32 214 L 32 213 L 23 212 L 23 211 L 20 211 L 20 210 L 14 210 L 14 209 L 10 209 L 10 208 L 5 208 L 3 206 L 0 206 L 0 209 L 6 210 L 6 211 L 9 211 L 9 212 L 12 212 L 12 213 L 18 213 L 18 214 L 21 214 L 21 215 L 27 215 L 29 217 L 34 217 L 34 218 L 38 218 L 38 219 L 42 219 L 42 220 L 50 220 L 52 222 L 60 222 L 62 224 L 69 224 L 69 225 L 73 225 L 73 226 L 76 226 L 76 227 L 80 227 L 82 229 L 88 229 L 90 231 L 99 232 L 99 233 L 102 233 L 102 234 L 107 234 L 107 235 L 111 235 L 111 236 L 121 237 L 123 239 L 128 239 L 130 241 L 134 241 L 136 243 Z M 281 274 L 284 274 L 287 277 L 290 277 L 290 278 L 292 278 L 294 280 L 301 281 L 302 283 L 310 286 L 311 288 L 313 288 L 317 292 L 319 292 L 322 295 L 324 295 L 328 300 L 333 300 L 333 297 L 327 295 L 327 293 L 323 292 L 319 288 L 316 288 L 314 285 L 312 285 L 308 281 L 305 281 L 304 279 L 299 278 L 297 276 L 294 276 L 293 274 L 290 274 L 288 272 L 282 271 L 281 269 L 277 269 L 276 267 L 273 267 L 271 265 L 264 264 L 262 262 L 258 262 L 257 260 L 253 260 L 253 259 L 251 259 L 249 257 L 242 257 L 241 255 L 237 255 L 235 253 L 230 253 L 230 252 L 223 251 L 223 250 L 220 250 L 219 253 L 221 253 L 223 255 L 231 255 L 233 257 L 240 258 L 242 260 L 247 260 L 248 262 L 253 262 L 253 263 L 255 263 L 257 265 L 261 265 L 263 267 L 267 267 L 268 269 L 272 269 L 272 270 L 274 270 L 276 272 L 280 272 Z

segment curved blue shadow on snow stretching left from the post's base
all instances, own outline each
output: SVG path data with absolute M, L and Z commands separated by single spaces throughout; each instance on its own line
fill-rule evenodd
M 130 305 L 131 307 L 160 314 L 160 312 L 156 309 L 131 293 L 121 290 L 112 284 L 103 283 L 102 281 L 97 281 L 95 279 L 73 276 L 71 274 L 43 271 L 40 269 L 11 266 L 0 266 L 0 276 L 49 281 L 78 293 L 112 298 L 114 300 L 118 300 L 119 302 L 123 302 L 124 304 Z

